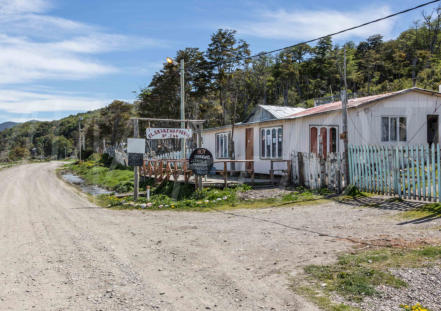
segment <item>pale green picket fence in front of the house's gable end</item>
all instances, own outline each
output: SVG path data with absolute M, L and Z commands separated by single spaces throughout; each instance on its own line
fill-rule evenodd
M 360 190 L 441 202 L 440 146 L 349 146 L 349 178 Z

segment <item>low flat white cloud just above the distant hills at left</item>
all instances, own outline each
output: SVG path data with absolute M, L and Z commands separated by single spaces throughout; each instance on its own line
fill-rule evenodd
M 0 89 L 0 110 L 7 113 L 88 111 L 108 105 L 110 99 L 78 96 L 69 93 Z

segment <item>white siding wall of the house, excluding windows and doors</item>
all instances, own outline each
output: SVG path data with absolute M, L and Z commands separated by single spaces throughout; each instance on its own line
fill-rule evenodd
M 426 144 L 427 115 L 439 114 L 441 98 L 418 92 L 409 92 L 385 99 L 376 103 L 361 106 L 348 111 L 349 143 L 361 144 Z M 407 142 L 381 142 L 381 117 L 407 117 Z M 441 123 L 441 118 L 440 118 Z M 292 152 L 309 152 L 310 125 L 337 126 L 338 136 L 342 132 L 341 111 L 319 114 L 290 120 L 277 120 L 238 126 L 235 128 L 234 142 L 236 159 L 245 159 L 245 130 L 254 129 L 254 161 L 256 173 L 268 174 L 270 161 L 260 158 L 260 129 L 273 126 L 283 127 L 283 159 L 290 159 Z M 209 149 L 215 156 L 215 134 L 231 132 L 231 128 L 206 130 L 202 134 L 203 147 Z M 441 131 L 440 131 L 441 134 Z M 343 142 L 338 137 L 337 148 L 342 151 Z M 216 160 L 216 158 L 215 158 Z M 238 166 L 236 166 L 238 168 Z M 217 164 L 222 169 L 223 164 Z M 243 169 L 243 164 L 241 167 Z

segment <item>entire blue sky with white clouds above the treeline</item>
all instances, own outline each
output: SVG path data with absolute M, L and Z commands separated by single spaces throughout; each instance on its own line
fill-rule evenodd
M 54 120 L 133 102 L 167 56 L 206 50 L 219 28 L 252 53 L 273 50 L 427 0 L 0 0 L 0 123 Z M 431 12 L 435 4 L 424 9 Z M 394 38 L 422 9 L 334 38 Z

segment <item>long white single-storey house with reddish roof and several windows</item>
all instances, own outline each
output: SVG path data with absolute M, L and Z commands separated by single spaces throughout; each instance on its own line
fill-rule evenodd
M 438 143 L 440 111 L 441 93 L 420 88 L 350 99 L 349 144 Z M 235 159 L 254 160 L 256 173 L 268 174 L 270 159 L 288 160 L 294 152 L 324 157 L 341 152 L 341 131 L 340 101 L 309 109 L 259 105 L 235 125 Z M 203 147 L 215 160 L 228 159 L 231 132 L 231 125 L 203 131 Z

